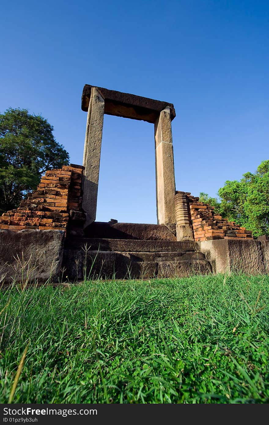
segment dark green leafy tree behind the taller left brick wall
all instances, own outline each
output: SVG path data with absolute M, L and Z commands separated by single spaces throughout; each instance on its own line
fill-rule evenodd
M 45 118 L 27 109 L 0 114 L 0 212 L 16 208 L 46 170 L 69 164 L 68 152 L 52 132 Z

